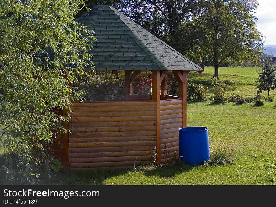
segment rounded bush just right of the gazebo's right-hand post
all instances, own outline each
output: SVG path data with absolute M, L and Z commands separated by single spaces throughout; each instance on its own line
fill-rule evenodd
M 208 87 L 201 84 L 187 84 L 187 100 L 189 101 L 204 101 L 208 96 Z

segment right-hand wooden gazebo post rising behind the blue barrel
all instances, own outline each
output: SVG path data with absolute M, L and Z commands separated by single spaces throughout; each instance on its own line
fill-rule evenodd
M 178 97 L 182 99 L 183 127 L 187 126 L 187 75 L 190 71 L 174 71 L 178 79 Z

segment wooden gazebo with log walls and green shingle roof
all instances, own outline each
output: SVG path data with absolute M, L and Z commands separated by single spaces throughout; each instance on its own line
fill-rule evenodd
M 72 103 L 70 133 L 57 157 L 67 168 L 87 169 L 160 164 L 178 156 L 178 128 L 186 126 L 186 77 L 203 70 L 111 6 L 97 5 L 78 21 L 95 32 L 96 70 L 125 71 L 125 100 Z M 151 71 L 152 95 L 132 95 L 141 71 Z M 169 71 L 178 80 L 179 97 L 165 90 Z

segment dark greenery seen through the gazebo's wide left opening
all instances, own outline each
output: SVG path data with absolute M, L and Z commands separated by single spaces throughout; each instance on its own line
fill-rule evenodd
M 125 100 L 125 74 L 116 77 L 110 71 L 97 71 L 79 78 L 73 84 L 76 90 L 85 90 L 86 101 Z

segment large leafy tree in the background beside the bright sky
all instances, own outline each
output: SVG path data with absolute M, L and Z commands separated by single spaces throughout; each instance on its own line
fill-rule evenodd
M 243 62 L 260 55 L 263 35 L 256 29 L 255 0 L 203 0 L 194 21 L 209 35 L 208 45 L 219 77 L 225 61 Z

